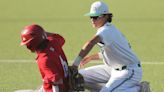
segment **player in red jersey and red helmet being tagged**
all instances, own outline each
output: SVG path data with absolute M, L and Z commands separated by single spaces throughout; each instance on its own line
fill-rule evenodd
M 37 64 L 43 80 L 43 92 L 68 92 L 68 63 L 62 50 L 65 40 L 59 34 L 45 32 L 36 24 L 21 32 L 21 45 L 37 54 Z

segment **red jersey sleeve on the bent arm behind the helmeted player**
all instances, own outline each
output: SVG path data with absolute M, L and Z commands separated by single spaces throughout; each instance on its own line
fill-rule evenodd
M 52 34 L 48 36 L 48 39 L 55 40 L 55 42 L 57 42 L 60 46 L 63 46 L 65 43 L 65 39 L 59 34 Z

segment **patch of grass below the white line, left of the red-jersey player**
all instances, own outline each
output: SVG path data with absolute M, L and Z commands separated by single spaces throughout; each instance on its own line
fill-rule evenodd
M 33 62 L 0 62 L 0 92 L 32 89 L 41 85 L 37 65 Z

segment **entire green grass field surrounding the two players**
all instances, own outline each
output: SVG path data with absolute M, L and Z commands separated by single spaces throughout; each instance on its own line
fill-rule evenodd
M 20 32 L 25 25 L 38 23 L 49 32 L 63 35 L 66 39 L 64 50 L 71 61 L 96 32 L 89 18 L 83 16 L 93 1 L 0 0 L 0 92 L 35 88 L 41 84 L 35 63 L 5 62 L 34 60 L 35 54 L 19 45 Z M 164 62 L 164 1 L 104 1 L 114 14 L 113 23 L 128 38 L 141 61 Z M 92 50 L 96 51 L 97 47 Z M 150 81 L 153 92 L 164 91 L 163 66 L 143 65 L 143 80 Z

